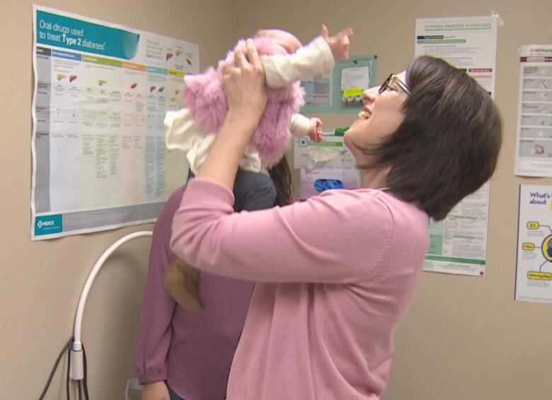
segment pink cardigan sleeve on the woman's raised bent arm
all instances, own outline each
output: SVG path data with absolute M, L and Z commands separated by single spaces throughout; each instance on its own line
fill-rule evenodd
M 188 184 L 173 219 L 173 252 L 211 273 L 254 282 L 347 283 L 377 273 L 393 218 L 374 190 L 327 193 L 270 210 L 234 213 L 215 181 Z

